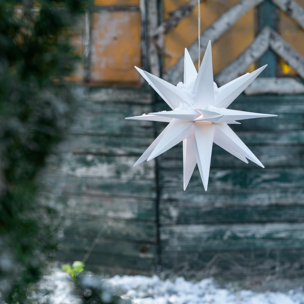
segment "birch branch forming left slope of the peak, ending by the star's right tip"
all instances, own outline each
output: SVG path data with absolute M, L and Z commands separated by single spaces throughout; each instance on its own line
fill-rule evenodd
M 269 48 L 270 45 L 270 27 L 264 27 L 262 31 L 253 40 L 250 46 L 240 54 L 237 59 L 223 68 L 215 76 L 215 81 L 219 86 L 237 78 L 250 67 L 257 59 L 259 59 Z

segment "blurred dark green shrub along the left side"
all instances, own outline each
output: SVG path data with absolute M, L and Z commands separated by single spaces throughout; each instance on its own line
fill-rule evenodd
M 39 173 L 76 108 L 65 78 L 86 1 L 0 1 L 0 303 L 25 302 L 55 245 Z

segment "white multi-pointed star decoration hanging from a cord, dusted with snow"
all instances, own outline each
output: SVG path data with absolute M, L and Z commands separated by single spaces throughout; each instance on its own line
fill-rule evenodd
M 237 124 L 237 120 L 241 119 L 277 115 L 236 111 L 227 107 L 266 66 L 217 88 L 213 82 L 211 41 L 209 41 L 199 73 L 196 72 L 191 57 L 185 49 L 184 83 L 180 82 L 177 86 L 135 67 L 172 111 L 126 118 L 169 123 L 134 166 L 145 160 L 150 161 L 183 141 L 184 190 L 197 164 L 207 191 L 212 143 L 216 143 L 245 163 L 248 163 L 248 158 L 264 168 L 228 124 Z

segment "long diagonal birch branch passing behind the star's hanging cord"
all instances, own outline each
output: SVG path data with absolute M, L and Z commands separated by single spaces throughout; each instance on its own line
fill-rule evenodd
M 201 48 L 207 47 L 208 41 L 211 39 L 212 43 L 218 40 L 224 33 L 226 33 L 241 16 L 245 15 L 250 9 L 263 2 L 264 0 L 240 0 L 237 4 L 233 5 L 219 19 L 217 19 L 211 26 L 209 26 L 201 35 Z M 188 49 L 192 58 L 198 56 L 198 39 Z M 171 67 L 164 79 L 172 83 L 181 81 L 184 68 L 184 56 L 181 56 L 178 62 Z

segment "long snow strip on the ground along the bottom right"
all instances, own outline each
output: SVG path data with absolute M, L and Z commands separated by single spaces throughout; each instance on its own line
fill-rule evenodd
M 189 282 L 183 277 L 174 281 L 154 275 L 114 276 L 107 280 L 125 292 L 124 297 L 140 304 L 303 304 L 302 289 L 289 292 L 252 292 L 219 288 L 211 279 Z

